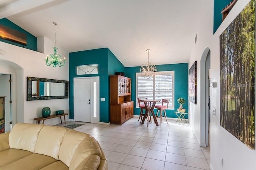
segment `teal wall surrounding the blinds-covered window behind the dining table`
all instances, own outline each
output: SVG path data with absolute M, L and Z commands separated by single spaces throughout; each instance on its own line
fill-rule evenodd
M 178 98 L 186 100 L 183 107 L 188 111 L 188 63 L 156 65 L 157 71 L 174 71 L 174 110 L 167 110 L 167 117 L 177 117 L 179 104 Z M 136 108 L 136 72 L 140 72 L 140 66 L 126 67 L 126 77 L 132 78 L 132 100 L 134 101 L 134 115 L 140 115 L 140 108 Z M 154 109 L 156 111 L 156 109 Z M 185 118 L 188 118 L 187 115 Z

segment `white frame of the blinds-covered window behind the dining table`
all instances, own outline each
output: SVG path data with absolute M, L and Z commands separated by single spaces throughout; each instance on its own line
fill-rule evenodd
M 164 75 L 164 74 L 171 74 L 172 75 L 172 103 L 169 103 L 168 110 L 174 110 L 174 75 L 175 71 L 158 71 L 155 75 Z M 141 76 L 140 72 L 136 72 L 136 108 L 140 108 L 138 105 L 138 76 Z M 153 96 L 155 96 L 155 78 L 153 79 Z

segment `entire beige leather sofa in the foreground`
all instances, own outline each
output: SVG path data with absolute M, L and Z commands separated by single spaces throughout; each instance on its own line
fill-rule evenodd
M 0 134 L 0 170 L 107 170 L 94 137 L 65 127 L 18 123 Z

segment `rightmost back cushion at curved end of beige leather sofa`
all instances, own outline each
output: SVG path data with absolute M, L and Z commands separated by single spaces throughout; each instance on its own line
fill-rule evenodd
M 90 155 L 102 156 L 100 147 L 94 137 L 88 135 L 77 147 L 70 162 L 70 170 L 74 170 L 86 157 Z M 100 159 L 96 160 L 100 163 Z M 96 167 L 97 168 L 97 167 Z

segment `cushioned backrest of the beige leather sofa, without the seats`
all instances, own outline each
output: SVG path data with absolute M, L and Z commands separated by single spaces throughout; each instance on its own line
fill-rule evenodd
M 98 167 L 102 156 L 100 147 L 93 137 L 57 126 L 17 123 L 10 132 L 9 145 L 11 149 L 51 156 L 61 160 L 70 169 L 75 169 L 91 155 L 98 157 L 93 159 L 93 166 Z

